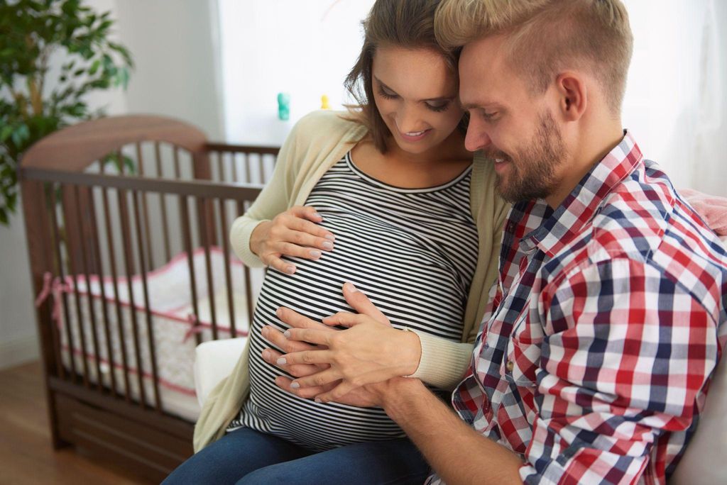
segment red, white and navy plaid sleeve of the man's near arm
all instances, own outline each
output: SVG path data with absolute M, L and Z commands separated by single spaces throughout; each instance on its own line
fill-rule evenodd
M 540 298 L 545 338 L 523 481 L 664 476 L 715 367 L 716 312 L 676 277 L 624 257 L 582 265 Z M 665 433 L 680 433 L 668 448 Z

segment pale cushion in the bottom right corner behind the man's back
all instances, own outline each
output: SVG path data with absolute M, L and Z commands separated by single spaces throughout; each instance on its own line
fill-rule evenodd
M 727 350 L 727 349 L 726 349 Z M 722 356 L 704 412 L 670 484 L 727 484 L 727 359 Z

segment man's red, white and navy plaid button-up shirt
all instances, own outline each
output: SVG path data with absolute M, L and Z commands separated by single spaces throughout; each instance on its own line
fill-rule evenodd
M 626 134 L 555 211 L 510 211 L 454 408 L 522 455 L 528 484 L 664 484 L 727 341 L 726 303 L 726 250 Z

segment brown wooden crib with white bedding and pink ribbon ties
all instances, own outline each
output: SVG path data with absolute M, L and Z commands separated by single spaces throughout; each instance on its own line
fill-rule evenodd
M 277 152 L 140 115 L 71 126 L 25 153 L 54 447 L 153 481 L 192 454 L 193 349 L 246 333 L 262 274 L 236 260 L 228 232 Z

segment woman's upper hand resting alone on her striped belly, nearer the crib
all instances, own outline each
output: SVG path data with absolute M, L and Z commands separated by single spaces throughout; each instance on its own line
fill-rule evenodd
M 272 221 L 262 221 L 250 235 L 250 250 L 263 263 L 293 274 L 295 265 L 282 256 L 318 259 L 321 251 L 333 250 L 334 235 L 318 226 L 323 218 L 310 206 L 296 206 L 279 213 Z

